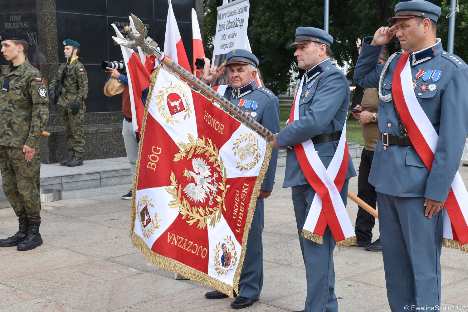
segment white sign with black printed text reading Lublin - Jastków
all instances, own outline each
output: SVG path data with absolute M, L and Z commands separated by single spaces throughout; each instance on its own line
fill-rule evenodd
M 226 59 L 227 52 L 245 49 L 247 24 L 249 23 L 249 0 L 237 0 L 218 7 L 218 20 L 214 36 L 213 62 L 219 66 Z M 225 72 L 211 86 L 228 84 Z M 259 85 L 260 86 L 260 85 Z

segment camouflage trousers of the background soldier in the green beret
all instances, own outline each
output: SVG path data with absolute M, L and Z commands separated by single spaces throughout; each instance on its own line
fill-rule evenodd
M 71 107 L 59 105 L 59 116 L 63 123 L 65 138 L 70 145 L 68 152 L 70 156 L 82 157 L 85 146 L 85 132 L 83 130 L 83 121 L 86 108 L 81 104 L 80 111 L 76 116 L 72 114 Z

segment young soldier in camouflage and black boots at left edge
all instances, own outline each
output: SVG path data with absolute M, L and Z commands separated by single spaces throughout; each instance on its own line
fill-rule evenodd
M 0 246 L 30 250 L 42 245 L 38 141 L 49 119 L 49 98 L 42 74 L 25 56 L 28 34 L 8 29 L 0 41 L 3 55 L 12 61 L 0 68 L 0 170 L 3 191 L 20 223 L 15 235 L 0 239 Z

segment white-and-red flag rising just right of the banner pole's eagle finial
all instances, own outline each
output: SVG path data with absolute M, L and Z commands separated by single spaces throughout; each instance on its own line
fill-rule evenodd
M 174 16 L 174 11 L 172 10 L 172 2 L 171 0 L 168 0 L 168 2 L 169 9 L 168 20 L 166 22 L 166 36 L 164 37 L 164 53 L 191 73 L 189 59 L 185 53 L 182 37 L 177 27 L 176 16 Z

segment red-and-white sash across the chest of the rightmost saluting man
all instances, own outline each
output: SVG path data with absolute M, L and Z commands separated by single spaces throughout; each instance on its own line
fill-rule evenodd
M 416 152 L 431 171 L 439 135 L 419 105 L 413 91 L 409 53 L 402 54 L 393 74 L 393 97 Z M 443 210 L 444 247 L 468 252 L 468 192 L 455 174 Z

